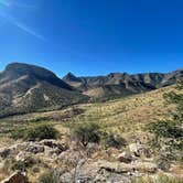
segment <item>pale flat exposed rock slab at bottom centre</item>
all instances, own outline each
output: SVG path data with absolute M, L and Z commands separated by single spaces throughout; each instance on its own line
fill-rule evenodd
M 153 163 L 136 162 L 131 164 L 114 163 L 108 161 L 83 160 L 71 173 L 61 176 L 63 183 L 73 182 L 114 182 L 130 183 L 131 177 L 146 173 L 157 173 L 158 168 Z

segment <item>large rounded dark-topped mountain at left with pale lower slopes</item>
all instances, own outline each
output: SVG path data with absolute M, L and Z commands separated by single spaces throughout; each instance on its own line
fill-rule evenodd
M 0 117 L 63 107 L 86 99 L 54 73 L 39 66 L 13 63 L 0 73 Z

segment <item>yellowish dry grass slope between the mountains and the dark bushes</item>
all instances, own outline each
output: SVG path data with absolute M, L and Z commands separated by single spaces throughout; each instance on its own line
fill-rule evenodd
M 68 134 L 73 125 L 97 122 L 104 130 L 123 134 L 142 136 L 144 123 L 168 118 L 174 106 L 165 106 L 163 94 L 173 90 L 173 86 L 116 99 L 107 103 L 77 105 L 74 108 L 83 109 L 75 112 L 73 107 L 63 110 L 35 112 L 14 116 L 0 120 L 0 129 L 18 129 L 22 127 L 51 121 L 62 133 Z M 4 137 L 4 133 L 1 133 Z M 7 142 L 6 142 L 7 143 Z

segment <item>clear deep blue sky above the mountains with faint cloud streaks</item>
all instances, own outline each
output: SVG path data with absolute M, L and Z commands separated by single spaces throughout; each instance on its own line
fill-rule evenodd
M 182 0 L 0 0 L 0 71 L 58 76 L 183 67 Z

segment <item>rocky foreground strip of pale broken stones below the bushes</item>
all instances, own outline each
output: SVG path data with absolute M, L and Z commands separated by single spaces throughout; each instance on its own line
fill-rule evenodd
M 39 176 L 47 170 L 53 171 L 61 183 L 130 183 L 144 175 L 155 179 L 159 173 L 183 179 L 183 171 L 175 171 L 177 165 L 157 163 L 146 146 L 137 142 L 128 149 L 128 152 L 105 150 L 93 143 L 87 149 L 78 149 L 74 142 L 67 146 L 62 140 L 17 142 L 0 149 L 0 169 L 11 162 L 14 170 L 1 183 L 39 182 Z

